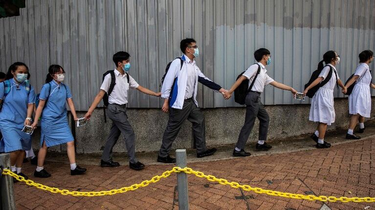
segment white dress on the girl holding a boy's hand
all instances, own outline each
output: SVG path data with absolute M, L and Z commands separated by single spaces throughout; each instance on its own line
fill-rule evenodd
M 333 69 L 332 77 L 330 81 L 320 87 L 312 97 L 309 120 L 312 122 L 325 123 L 331 126 L 331 123 L 334 123 L 335 119 L 333 107 L 333 89 L 336 86 L 337 71 L 333 65 L 328 65 L 330 65 Z M 323 80 L 327 78 L 327 75 L 330 72 L 330 66 L 325 66 L 322 72 L 319 74 L 319 77 L 323 77 Z M 337 75 L 337 80 L 338 79 L 340 78 Z

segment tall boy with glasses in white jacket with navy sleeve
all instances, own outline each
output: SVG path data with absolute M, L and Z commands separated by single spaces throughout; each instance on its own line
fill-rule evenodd
M 206 147 L 204 116 L 196 100 L 198 82 L 222 94 L 225 90 L 200 71 L 194 61 L 199 56 L 197 42 L 194 39 L 182 40 L 180 49 L 183 55 L 171 63 L 161 87 L 161 97 L 164 98 L 162 111 L 168 112 L 169 110 L 168 125 L 157 157 L 157 162 L 161 163 L 176 163 L 176 158 L 170 157 L 169 152 L 186 119 L 193 124 L 197 157 L 201 158 L 216 152 L 216 148 L 208 149 Z

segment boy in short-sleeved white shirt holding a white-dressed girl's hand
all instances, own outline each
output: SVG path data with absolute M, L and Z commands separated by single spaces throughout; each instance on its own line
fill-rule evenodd
M 265 85 L 271 84 L 277 88 L 283 90 L 289 90 L 293 95 L 297 93 L 295 89 L 289 87 L 285 84 L 278 83 L 274 81 L 267 75 L 266 65 L 271 63 L 271 55 L 269 50 L 265 48 L 260 48 L 254 52 L 254 58 L 258 63 L 255 63 L 247 68 L 243 75 L 232 85 L 232 87 L 225 93 L 226 98 L 230 98 L 233 91 L 244 81 L 249 80 L 250 84 L 253 82 L 258 68 L 260 72 L 254 81 L 251 90 L 247 93 L 245 99 L 246 105 L 246 115 L 245 123 L 241 129 L 240 135 L 235 149 L 233 150 L 234 157 L 246 157 L 251 155 L 250 152 L 245 152 L 244 147 L 246 145 L 247 139 L 249 138 L 250 132 L 253 129 L 255 118 L 259 119 L 259 140 L 256 145 L 257 150 L 268 150 L 272 146 L 267 145 L 265 140 L 267 139 L 269 117 L 265 110 L 264 105 L 261 102 L 261 93 L 263 92 Z

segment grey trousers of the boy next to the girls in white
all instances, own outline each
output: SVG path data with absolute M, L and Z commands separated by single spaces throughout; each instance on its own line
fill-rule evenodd
M 243 149 L 249 138 L 250 132 L 253 129 L 255 118 L 259 119 L 259 140 L 265 141 L 267 139 L 269 116 L 265 110 L 265 106 L 261 102 L 261 94 L 250 91 L 245 99 L 246 115 L 245 123 L 241 129 L 237 141 L 237 148 Z

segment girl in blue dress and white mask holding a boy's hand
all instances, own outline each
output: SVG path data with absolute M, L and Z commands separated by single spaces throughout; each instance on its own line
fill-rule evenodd
M 41 118 L 41 149 L 38 152 L 38 166 L 34 171 L 35 177 L 47 178 L 51 174 L 44 169 L 44 160 L 47 148 L 66 144 L 67 155 L 70 162 L 70 174 L 79 175 L 86 171 L 76 165 L 74 152 L 74 138 L 67 120 L 66 102 L 75 121 L 78 120 L 72 100 L 70 89 L 63 84 L 65 71 L 60 65 L 51 65 L 48 68 L 47 78 L 39 96 L 39 105 L 35 114 L 33 127 Z

